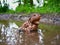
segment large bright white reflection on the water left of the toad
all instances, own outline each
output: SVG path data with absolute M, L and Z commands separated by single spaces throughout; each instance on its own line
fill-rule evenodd
M 9 23 L 8 27 L 2 25 L 1 28 L 1 36 L 3 37 L 2 40 L 6 41 L 8 45 L 15 45 L 17 42 L 17 28 L 18 26 L 15 23 Z M 1 41 L 1 40 L 0 40 Z

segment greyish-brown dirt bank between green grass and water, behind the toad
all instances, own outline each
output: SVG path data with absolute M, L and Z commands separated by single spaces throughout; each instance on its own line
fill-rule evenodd
M 57 24 L 60 25 L 60 14 L 41 14 L 41 23 L 46 24 Z M 17 21 L 26 21 L 30 15 L 23 16 L 23 14 L 0 14 L 0 20 L 17 20 Z

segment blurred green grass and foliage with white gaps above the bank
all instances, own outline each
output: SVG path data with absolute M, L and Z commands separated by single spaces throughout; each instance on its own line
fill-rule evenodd
M 59 13 L 60 0 L 0 0 L 0 13 Z

